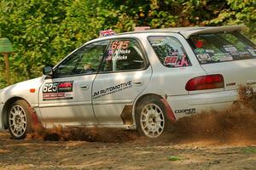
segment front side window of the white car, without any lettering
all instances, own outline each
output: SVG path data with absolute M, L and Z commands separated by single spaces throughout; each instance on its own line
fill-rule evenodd
M 79 48 L 55 69 L 55 77 L 93 74 L 98 71 L 102 62 L 108 40 L 90 43 Z

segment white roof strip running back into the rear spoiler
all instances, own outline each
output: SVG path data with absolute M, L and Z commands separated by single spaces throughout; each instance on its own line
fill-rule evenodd
M 163 28 L 163 29 L 149 29 L 144 31 L 131 31 L 119 33 L 118 35 L 135 34 L 135 33 L 149 33 L 149 32 L 174 32 L 180 33 L 188 39 L 192 35 L 204 34 L 204 33 L 216 33 L 216 32 L 230 32 L 241 31 L 246 26 L 201 26 L 201 27 L 175 27 L 175 28 Z

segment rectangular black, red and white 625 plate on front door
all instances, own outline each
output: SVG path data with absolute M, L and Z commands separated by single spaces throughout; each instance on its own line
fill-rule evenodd
M 43 87 L 43 100 L 73 99 L 73 81 L 48 82 Z

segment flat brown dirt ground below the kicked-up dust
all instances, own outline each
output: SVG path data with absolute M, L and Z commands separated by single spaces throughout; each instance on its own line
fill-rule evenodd
M 0 169 L 256 168 L 256 143 L 253 141 L 220 144 L 216 140 L 201 140 L 178 144 L 167 137 L 120 139 L 119 142 L 115 139 L 106 143 L 13 140 L 9 139 L 9 133 L 0 133 Z

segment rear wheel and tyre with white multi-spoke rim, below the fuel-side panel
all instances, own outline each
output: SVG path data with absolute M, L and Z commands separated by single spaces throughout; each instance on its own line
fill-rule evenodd
M 166 131 L 169 122 L 165 105 L 154 97 L 145 98 L 138 103 L 135 119 L 138 133 L 149 138 L 159 137 Z

